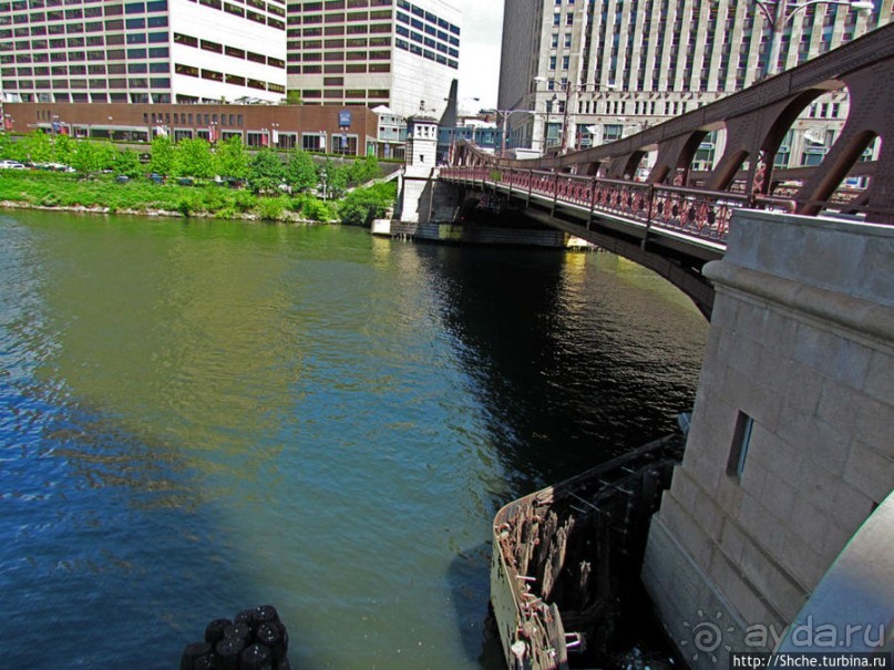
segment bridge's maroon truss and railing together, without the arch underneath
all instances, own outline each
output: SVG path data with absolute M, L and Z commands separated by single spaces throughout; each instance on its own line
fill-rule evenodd
M 530 197 L 553 197 L 593 214 L 686 229 L 711 239 L 723 239 L 731 208 L 742 206 L 803 216 L 838 212 L 894 225 L 892 81 L 894 23 L 888 23 L 744 91 L 616 142 L 524 159 L 494 156 L 461 142 L 451 151 L 451 164 L 458 167 L 443 174 L 470 175 L 499 183 L 501 190 L 526 190 Z M 822 161 L 777 168 L 789 132 L 811 104 L 833 91 L 846 93 L 847 114 Z M 710 169 L 697 171 L 699 147 L 715 132 L 718 137 L 722 134 L 718 143 L 722 154 Z M 474 177 L 456 172 L 464 168 L 485 172 Z M 633 178 L 641 173 L 646 173 L 643 182 Z M 863 184 L 849 192 L 851 177 Z

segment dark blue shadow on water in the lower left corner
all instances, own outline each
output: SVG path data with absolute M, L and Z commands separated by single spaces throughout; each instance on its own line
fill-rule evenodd
M 24 392 L 8 409 L 19 439 L 4 476 L 19 488 L 3 506 L 20 526 L 0 579 L 16 612 L 0 622 L 4 667 L 176 668 L 209 620 L 277 605 L 172 445 L 71 401 Z

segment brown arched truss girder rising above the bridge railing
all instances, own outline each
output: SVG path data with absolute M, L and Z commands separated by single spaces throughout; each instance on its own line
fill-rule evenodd
M 535 159 L 497 158 L 462 145 L 454 165 L 527 168 L 633 179 L 640 159 L 657 152 L 646 181 L 691 186 L 690 166 L 707 133 L 726 130 L 723 155 L 707 175 L 705 188 L 737 189 L 754 198 L 773 195 L 773 161 L 799 114 L 829 91 L 847 90 L 850 114 L 842 133 L 819 166 L 801 171 L 800 188 L 785 197 L 791 209 L 815 215 L 857 164 L 875 137 L 882 138 L 877 161 L 861 174 L 871 176 L 862 197 L 849 210 L 867 220 L 894 224 L 894 24 L 882 27 L 844 47 L 793 70 L 764 80 L 740 93 L 705 105 L 618 142 L 559 156 Z M 742 185 L 744 182 L 744 185 Z M 751 205 L 759 204 L 756 199 Z

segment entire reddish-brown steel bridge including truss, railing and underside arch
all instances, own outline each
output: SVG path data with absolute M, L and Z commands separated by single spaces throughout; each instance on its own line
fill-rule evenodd
M 814 100 L 846 89 L 850 113 L 815 167 L 774 169 L 789 128 Z M 710 172 L 691 169 L 712 131 L 726 148 Z M 861 161 L 881 143 L 874 161 Z M 643 179 L 647 156 L 654 156 Z M 726 250 L 738 208 L 847 216 L 894 224 L 894 24 L 799 68 L 618 142 L 535 159 L 495 157 L 462 143 L 439 179 L 463 195 L 489 193 L 526 216 L 649 267 L 706 316 L 705 262 Z M 847 177 L 867 187 L 844 187 Z

